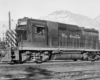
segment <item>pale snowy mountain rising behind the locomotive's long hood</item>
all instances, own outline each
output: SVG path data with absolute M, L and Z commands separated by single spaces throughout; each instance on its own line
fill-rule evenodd
M 75 24 L 85 28 L 94 28 L 96 30 L 99 30 L 100 33 L 100 16 L 96 17 L 95 19 L 91 19 L 84 15 L 74 14 L 67 10 L 60 10 L 55 11 L 47 16 L 40 17 L 40 19 L 56 21 L 66 24 Z

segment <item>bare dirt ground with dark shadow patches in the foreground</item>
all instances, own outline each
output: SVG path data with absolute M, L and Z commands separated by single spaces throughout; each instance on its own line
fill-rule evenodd
M 0 66 L 0 80 L 100 80 L 100 65 L 83 63 L 69 66 L 59 63 Z

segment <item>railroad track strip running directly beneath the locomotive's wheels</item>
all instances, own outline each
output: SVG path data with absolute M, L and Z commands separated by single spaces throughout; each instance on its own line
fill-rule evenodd
M 43 63 L 34 63 L 34 62 L 27 62 L 27 63 L 23 63 L 23 64 L 13 64 L 13 63 L 0 63 L 0 66 L 22 66 L 22 65 L 59 65 L 59 64 L 66 64 L 66 65 L 82 65 L 82 64 L 87 64 L 87 65 L 94 65 L 94 64 L 100 64 L 100 61 L 95 61 L 95 62 L 91 62 L 91 61 L 66 61 L 66 60 L 52 60 L 52 61 L 48 61 L 48 62 L 43 62 Z

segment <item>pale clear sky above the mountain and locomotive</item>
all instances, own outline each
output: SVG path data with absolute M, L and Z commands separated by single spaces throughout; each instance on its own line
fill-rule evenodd
M 57 10 L 70 12 L 95 18 L 100 15 L 100 0 L 0 0 L 0 21 L 11 18 L 30 17 L 39 18 Z

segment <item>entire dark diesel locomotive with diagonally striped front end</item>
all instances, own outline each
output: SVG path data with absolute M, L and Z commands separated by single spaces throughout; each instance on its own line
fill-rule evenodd
M 7 30 L 1 61 L 99 60 L 99 46 L 98 30 L 24 17 Z

